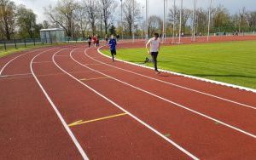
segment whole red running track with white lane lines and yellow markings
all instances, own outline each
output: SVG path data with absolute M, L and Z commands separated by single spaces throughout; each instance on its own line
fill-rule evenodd
M 12 54 L 0 66 L 0 159 L 256 157 L 251 92 L 158 76 L 81 45 Z

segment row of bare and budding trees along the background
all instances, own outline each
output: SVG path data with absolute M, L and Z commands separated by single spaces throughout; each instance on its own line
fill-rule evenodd
M 120 16 L 119 0 L 58 0 L 55 6 L 44 8 L 47 20 L 37 24 L 37 15 L 26 6 L 17 6 L 12 0 L 0 0 L 0 39 L 39 37 L 42 28 L 63 28 L 67 37 L 86 37 L 88 34 L 121 34 L 131 36 L 145 35 L 143 7 L 137 0 L 123 0 L 123 21 Z M 166 34 L 172 35 L 172 24 L 179 26 L 177 6 L 168 9 Z M 150 11 L 149 11 L 150 13 Z M 193 10 L 182 10 L 182 31 L 191 34 Z M 211 10 L 211 32 L 256 31 L 256 11 L 242 8 L 230 14 L 222 5 Z M 195 10 L 195 32 L 207 33 L 208 9 Z M 134 24 L 134 26 L 133 26 Z M 161 32 L 163 20 L 158 15 L 148 17 L 148 33 Z M 175 33 L 177 34 L 177 31 Z

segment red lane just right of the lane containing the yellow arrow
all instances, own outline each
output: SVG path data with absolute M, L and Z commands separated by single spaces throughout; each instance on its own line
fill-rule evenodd
M 90 49 L 91 50 L 91 49 Z M 95 57 L 104 59 L 99 54 L 94 54 Z M 96 64 L 95 60 L 83 58 L 83 49 L 77 49 L 73 52 L 73 59 L 79 60 L 89 68 L 96 71 L 104 71 L 108 66 Z M 79 64 L 71 64 L 70 60 L 63 60 L 59 62 L 60 66 L 66 68 L 73 68 L 82 70 L 84 66 Z M 79 66 L 81 68 L 79 68 Z M 84 70 L 89 69 L 84 67 Z M 112 72 L 112 71 L 110 71 Z M 113 74 L 119 74 L 114 71 Z M 94 72 L 96 73 L 96 72 Z M 122 73 L 122 80 L 126 81 L 126 73 Z M 85 73 L 73 74 L 74 77 L 81 79 L 86 77 Z M 102 77 L 106 75 L 97 74 L 95 77 Z M 147 83 L 141 77 L 134 77 L 134 81 Z M 84 82 L 84 81 L 83 81 Z M 192 152 L 195 156 L 200 158 L 250 158 L 255 157 L 255 138 L 242 134 L 234 129 L 230 129 L 219 123 L 201 117 L 190 111 L 186 111 L 169 102 L 160 100 L 150 94 L 146 94 L 138 89 L 131 88 L 124 83 L 119 83 L 113 78 L 97 79 L 94 81 L 85 81 L 84 83 L 90 85 L 103 95 L 113 100 L 119 106 L 124 107 L 127 111 L 136 115 L 144 122 L 153 126 L 154 129 L 163 134 L 170 134 L 170 139 L 177 142 L 180 146 Z M 157 88 L 157 86 L 155 87 Z M 154 89 L 154 86 L 148 85 L 147 89 Z M 167 90 L 162 88 L 162 90 Z M 169 92 L 169 90 L 167 90 Z M 182 96 L 182 95 L 179 95 Z M 190 98 L 191 99 L 191 98 Z M 211 102 L 212 103 L 212 102 Z M 216 102 L 218 103 L 218 102 Z M 207 104 L 204 104 L 207 106 Z M 218 108 L 217 108 L 218 110 Z M 232 147 L 230 147 L 232 146 Z

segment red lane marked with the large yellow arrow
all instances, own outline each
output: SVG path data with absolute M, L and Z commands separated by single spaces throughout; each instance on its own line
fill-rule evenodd
M 74 75 L 84 75 L 87 81 L 98 75 L 69 58 L 70 50 L 55 55 L 55 61 Z M 35 61 L 49 61 L 53 54 L 42 54 Z M 107 100 L 75 82 L 54 63 L 34 63 L 34 71 L 49 97 L 67 123 L 92 120 L 124 113 Z M 40 76 L 40 75 L 49 76 Z M 71 127 L 80 145 L 91 159 L 141 159 L 167 157 L 189 158 L 160 136 L 154 134 L 128 115 Z

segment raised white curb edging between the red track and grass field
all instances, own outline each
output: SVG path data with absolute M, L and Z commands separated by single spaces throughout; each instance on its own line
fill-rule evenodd
M 109 59 L 112 59 L 110 56 L 108 56 L 106 54 L 103 54 L 101 52 L 100 49 L 102 49 L 103 47 L 106 47 L 106 46 L 102 46 L 102 47 L 97 49 L 98 53 L 102 54 L 103 56 L 105 56 Z M 136 64 L 136 63 L 131 63 L 131 62 L 125 61 L 125 60 L 119 60 L 119 59 L 115 59 L 115 60 L 130 64 L 130 65 L 133 65 L 133 66 L 140 66 L 140 67 L 143 67 L 143 68 L 148 68 L 150 70 L 154 70 L 154 68 L 150 67 L 150 66 L 143 66 L 143 65 L 139 65 L 139 64 Z M 161 70 L 161 69 L 159 71 L 170 73 L 170 74 L 177 75 L 177 76 L 189 77 L 189 78 L 192 78 L 192 79 L 195 79 L 195 80 L 199 80 L 199 81 L 203 81 L 203 82 L 207 82 L 207 83 L 214 83 L 214 84 L 218 84 L 218 85 L 222 85 L 222 86 L 230 87 L 230 88 L 234 88 L 234 89 L 246 90 L 248 92 L 253 92 L 253 93 L 256 94 L 256 89 L 250 89 L 250 88 L 238 86 L 238 85 L 235 85 L 235 84 L 222 83 L 222 82 L 219 82 L 219 81 L 214 81 L 214 80 L 210 80 L 210 79 L 206 79 L 206 78 L 202 78 L 202 77 L 189 76 L 189 75 L 182 74 L 182 73 L 177 73 L 177 72 L 174 72 L 174 71 L 166 71 L 166 70 Z

